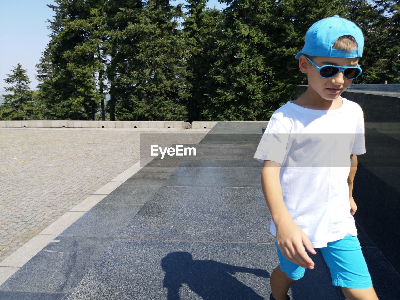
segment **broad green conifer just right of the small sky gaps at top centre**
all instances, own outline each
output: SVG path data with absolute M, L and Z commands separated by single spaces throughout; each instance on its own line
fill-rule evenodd
M 274 1 L 224 1 L 223 20 L 214 36 L 215 62 L 206 87 L 208 104 L 202 120 L 244 121 L 256 116 L 256 106 L 268 92 L 268 72 L 262 51 L 270 41 L 260 20 L 269 18 Z M 257 19 L 258 18 L 258 19 Z

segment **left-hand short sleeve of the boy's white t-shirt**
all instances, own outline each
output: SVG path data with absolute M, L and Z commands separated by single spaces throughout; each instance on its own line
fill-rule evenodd
M 282 165 L 286 156 L 288 138 L 288 131 L 282 122 L 272 116 L 261 137 L 254 158 L 262 163 L 264 160 L 272 160 Z

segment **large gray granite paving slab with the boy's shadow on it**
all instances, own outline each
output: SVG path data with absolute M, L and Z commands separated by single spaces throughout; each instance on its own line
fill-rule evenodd
M 324 286 L 314 288 L 313 299 L 342 300 L 321 259 L 316 254 L 316 268 L 304 275 Z M 118 239 L 68 300 L 269 299 L 270 274 L 278 264 L 272 244 Z M 310 299 L 309 293 L 298 286 L 292 299 Z

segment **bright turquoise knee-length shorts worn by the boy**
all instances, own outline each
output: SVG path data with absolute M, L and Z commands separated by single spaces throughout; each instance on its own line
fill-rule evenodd
M 278 250 L 280 269 L 286 276 L 298 280 L 304 276 L 307 270 L 310 270 L 298 266 L 284 257 L 276 244 L 276 240 L 275 246 Z M 312 259 L 314 254 L 310 254 L 306 246 L 304 246 L 304 249 Z M 319 249 L 328 265 L 334 286 L 358 289 L 372 287 L 371 276 L 357 236 L 345 236 L 342 240 L 328 242 L 327 247 Z M 318 268 L 318 266 L 314 266 L 315 268 Z

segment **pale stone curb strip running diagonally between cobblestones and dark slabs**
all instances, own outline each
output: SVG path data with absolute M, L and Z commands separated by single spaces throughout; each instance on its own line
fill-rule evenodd
M 54 240 L 54 238 L 60 235 L 88 210 L 90 210 L 108 194 L 113 192 L 116 188 L 118 188 L 118 186 L 132 177 L 136 172 L 146 166 L 146 164 L 153 159 L 154 158 L 147 158 L 144 160 L 139 160 L 124 172 L 113 178 L 106 185 L 96 190 L 88 198 L 71 208 L 55 222 L 50 224 L 39 234 L 34 236 L 32 239 L 10 254 L 10 256 L 6 257 L 2 262 L 0 262 L 0 285 L 2 285 L 8 278 L 10 278 L 49 243 L 60 242 L 60 240 Z M 143 166 L 140 166 L 141 162 Z

